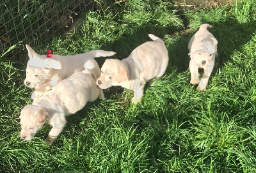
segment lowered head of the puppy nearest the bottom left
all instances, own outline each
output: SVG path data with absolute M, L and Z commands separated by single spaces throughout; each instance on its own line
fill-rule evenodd
M 20 138 L 24 140 L 31 140 L 36 132 L 42 128 L 49 114 L 44 107 L 35 105 L 26 105 L 20 112 Z

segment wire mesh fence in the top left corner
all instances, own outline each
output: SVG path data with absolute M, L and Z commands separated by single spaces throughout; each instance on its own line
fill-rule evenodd
M 0 3 L 0 55 L 13 45 L 9 59 L 34 45 L 65 33 L 73 20 L 93 7 L 94 0 L 3 0 Z

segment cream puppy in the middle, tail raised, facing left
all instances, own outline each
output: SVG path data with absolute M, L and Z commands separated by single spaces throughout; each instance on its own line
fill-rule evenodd
M 153 34 L 148 36 L 154 41 L 147 41 L 136 47 L 130 56 L 122 61 L 106 59 L 97 85 L 102 89 L 111 86 L 132 89 L 132 103 L 140 102 L 146 82 L 152 80 L 154 84 L 164 74 L 169 61 L 164 41 Z

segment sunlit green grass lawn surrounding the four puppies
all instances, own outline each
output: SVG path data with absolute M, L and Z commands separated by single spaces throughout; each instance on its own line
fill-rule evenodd
M 32 90 L 23 85 L 26 62 L 1 57 L 1 172 L 256 172 L 255 3 L 178 9 L 164 0 L 105 2 L 74 33 L 35 47 L 61 55 L 113 50 L 123 59 L 152 33 L 163 38 L 170 57 L 140 103 L 131 103 L 131 90 L 106 89 L 106 100 L 67 117 L 51 147 L 43 141 L 47 125 L 33 140 L 19 139 L 19 112 L 31 103 Z M 187 47 L 206 22 L 220 57 L 202 93 L 189 84 Z M 97 58 L 100 66 L 104 60 Z

